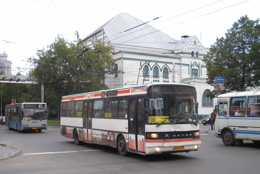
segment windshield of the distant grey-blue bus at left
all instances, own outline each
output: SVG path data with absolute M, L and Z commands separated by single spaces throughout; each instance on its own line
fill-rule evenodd
M 22 119 L 23 120 L 46 120 L 47 119 L 46 109 L 23 109 Z

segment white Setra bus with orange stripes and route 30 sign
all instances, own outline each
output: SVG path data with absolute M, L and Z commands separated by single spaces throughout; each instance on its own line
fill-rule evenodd
M 122 156 L 197 151 L 197 107 L 195 88 L 179 83 L 68 95 L 61 102 L 61 135 L 76 145 L 118 148 Z

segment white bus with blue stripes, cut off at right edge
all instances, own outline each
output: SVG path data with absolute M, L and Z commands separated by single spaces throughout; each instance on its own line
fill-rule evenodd
M 216 107 L 215 132 L 226 146 L 243 140 L 260 143 L 260 91 L 221 94 Z

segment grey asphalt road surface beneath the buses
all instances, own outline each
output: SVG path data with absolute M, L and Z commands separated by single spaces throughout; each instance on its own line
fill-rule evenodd
M 122 157 L 117 149 L 84 144 L 60 135 L 59 126 L 41 133 L 17 133 L 0 126 L 0 143 L 21 153 L 0 161 L 0 173 L 259 173 L 259 150 L 251 141 L 225 146 L 209 135 L 210 125 L 200 125 L 199 151 L 166 155 L 131 154 Z

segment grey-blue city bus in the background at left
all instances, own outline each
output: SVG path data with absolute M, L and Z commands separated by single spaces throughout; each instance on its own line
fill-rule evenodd
M 17 103 L 5 105 L 5 125 L 17 132 L 47 130 L 46 103 Z

